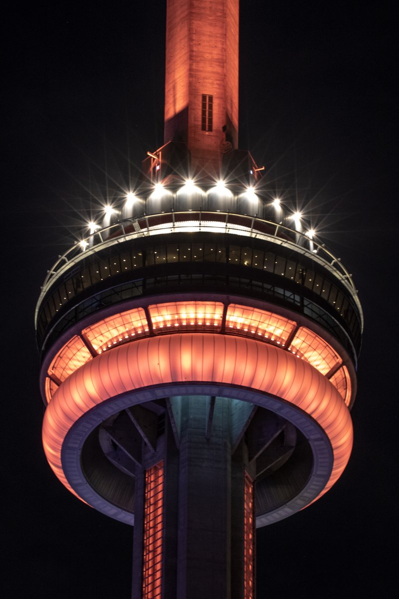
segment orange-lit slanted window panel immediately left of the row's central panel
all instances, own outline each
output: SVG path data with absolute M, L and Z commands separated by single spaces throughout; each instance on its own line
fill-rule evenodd
M 115 345 L 148 335 L 147 318 L 143 308 L 135 308 L 100 320 L 84 329 L 82 334 L 96 352 L 102 353 Z

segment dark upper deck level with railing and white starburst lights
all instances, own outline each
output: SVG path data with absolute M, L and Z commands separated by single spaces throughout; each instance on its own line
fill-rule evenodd
M 363 312 L 351 274 L 261 191 L 239 183 L 147 184 L 91 226 L 41 288 L 35 322 L 42 350 L 101 305 L 206 289 L 300 311 L 356 362 Z

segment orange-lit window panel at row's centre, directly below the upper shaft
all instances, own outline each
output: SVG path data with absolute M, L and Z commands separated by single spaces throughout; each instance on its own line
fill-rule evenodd
M 177 330 L 220 331 L 223 304 L 212 301 L 179 301 L 148 306 L 154 333 Z

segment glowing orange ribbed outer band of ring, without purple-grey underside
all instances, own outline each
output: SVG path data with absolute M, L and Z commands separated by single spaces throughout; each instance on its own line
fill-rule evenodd
M 334 456 L 330 479 L 319 497 L 345 469 L 352 450 L 352 421 L 330 381 L 280 347 L 208 332 L 138 339 L 97 356 L 71 374 L 55 392 L 44 415 L 42 438 L 50 467 L 71 489 L 63 472 L 61 451 L 65 436 L 81 416 L 127 391 L 190 381 L 254 389 L 281 398 L 316 420 L 329 438 Z

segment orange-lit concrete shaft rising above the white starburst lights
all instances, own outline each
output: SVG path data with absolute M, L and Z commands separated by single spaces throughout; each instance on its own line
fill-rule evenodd
M 205 177 L 237 148 L 238 29 L 239 0 L 167 0 L 165 143 L 186 143 Z

